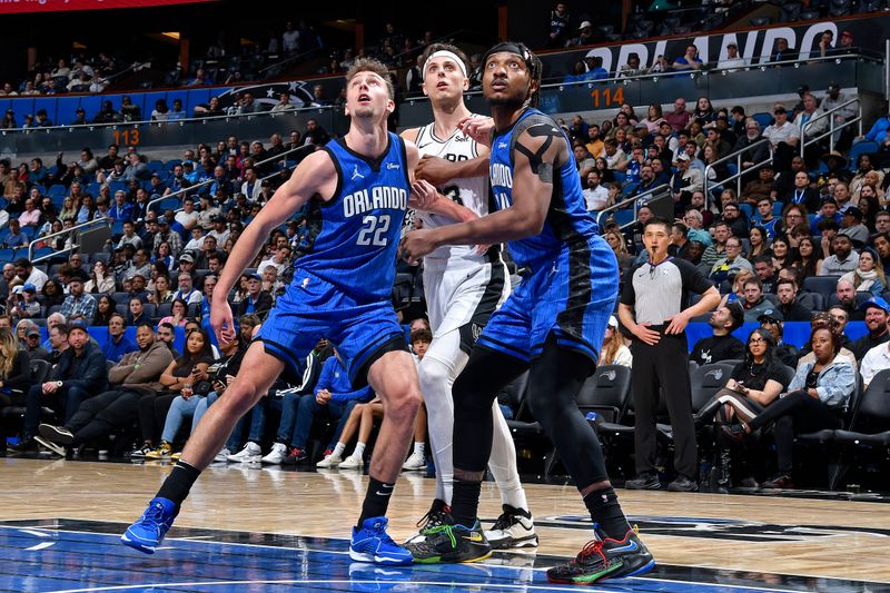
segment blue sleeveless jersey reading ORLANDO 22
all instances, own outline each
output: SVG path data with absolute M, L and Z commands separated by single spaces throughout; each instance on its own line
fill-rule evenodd
M 316 233 L 295 263 L 359 303 L 389 300 L 396 250 L 411 185 L 405 144 L 389 134 L 377 159 L 362 156 L 344 139 L 325 146 L 337 169 L 328 201 L 312 200 L 308 220 Z M 298 275 L 294 276 L 298 281 Z

